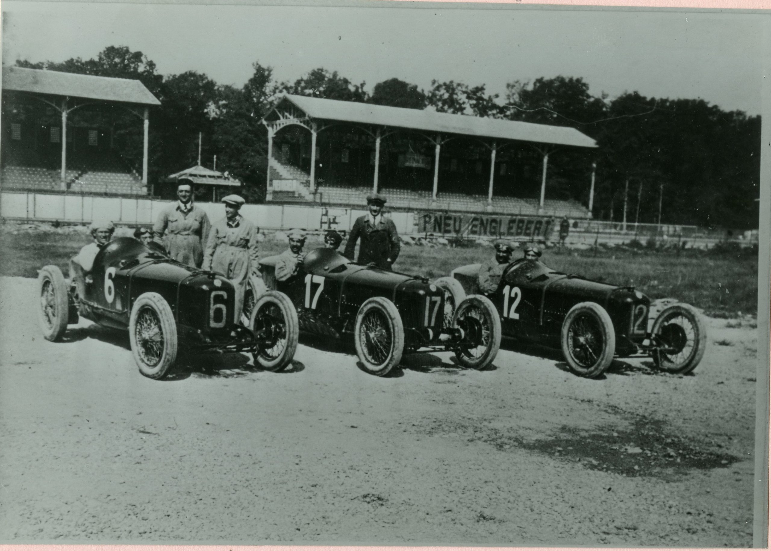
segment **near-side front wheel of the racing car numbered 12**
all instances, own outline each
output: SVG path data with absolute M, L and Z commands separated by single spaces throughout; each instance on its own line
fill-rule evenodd
M 581 377 L 601 376 L 616 350 L 611 316 L 596 302 L 580 302 L 562 322 L 561 344 L 572 372 Z

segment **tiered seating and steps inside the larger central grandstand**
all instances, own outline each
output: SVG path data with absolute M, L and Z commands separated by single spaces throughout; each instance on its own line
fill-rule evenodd
M 271 202 L 312 202 L 311 177 L 296 166 L 283 164 L 271 159 L 271 181 L 273 194 Z M 356 206 L 366 204 L 370 186 L 348 187 L 342 185 L 318 185 L 315 200 L 322 204 Z M 487 195 L 466 195 L 464 193 L 439 192 L 436 201 L 431 193 L 412 189 L 380 189 L 388 198 L 388 205 L 396 209 L 447 210 L 451 212 L 486 212 Z M 570 218 L 591 218 L 581 203 L 568 200 L 546 199 L 544 208 L 538 208 L 538 199 L 493 196 L 493 212 L 507 215 L 568 216 Z

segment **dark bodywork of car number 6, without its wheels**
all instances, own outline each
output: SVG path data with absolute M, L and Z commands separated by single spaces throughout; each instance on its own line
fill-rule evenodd
M 73 314 L 99 325 L 128 329 L 136 299 L 156 292 L 166 300 L 177 333 L 191 352 L 252 351 L 257 341 L 234 322 L 233 284 L 222 275 L 183 265 L 130 237 L 109 242 L 86 273 L 72 262 Z

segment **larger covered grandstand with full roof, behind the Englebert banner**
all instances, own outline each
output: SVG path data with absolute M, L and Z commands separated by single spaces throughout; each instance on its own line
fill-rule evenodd
M 591 218 L 593 172 L 588 205 L 545 196 L 550 153 L 596 147 L 575 129 L 297 95 L 263 124 L 268 202 Z

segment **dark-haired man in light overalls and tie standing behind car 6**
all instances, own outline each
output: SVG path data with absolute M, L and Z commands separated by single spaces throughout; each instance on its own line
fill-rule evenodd
M 204 260 L 211 227 L 209 217 L 204 209 L 193 204 L 193 185 L 188 180 L 177 184 L 177 199 L 160 212 L 153 233 L 156 239 L 163 240 L 159 242 L 172 259 L 198 268 Z

